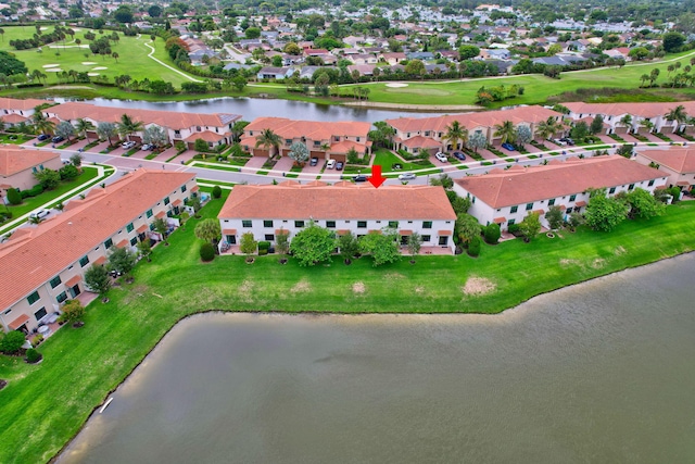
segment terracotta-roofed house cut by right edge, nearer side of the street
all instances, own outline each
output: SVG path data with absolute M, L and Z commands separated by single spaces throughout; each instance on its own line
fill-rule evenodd
M 669 176 L 668 187 L 678 186 L 693 191 L 695 185 L 695 149 L 670 148 L 669 150 L 643 150 L 636 153 L 635 161 L 646 164 Z

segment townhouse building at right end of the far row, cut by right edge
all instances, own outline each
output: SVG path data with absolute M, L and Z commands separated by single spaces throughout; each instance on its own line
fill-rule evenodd
M 592 121 L 597 115 L 604 120 L 606 134 L 675 133 L 692 128 L 691 122 L 668 120 L 666 115 L 678 105 L 683 105 L 687 115 L 695 114 L 695 101 L 647 102 L 647 103 L 565 103 L 572 121 Z M 629 124 L 624 123 L 630 116 Z

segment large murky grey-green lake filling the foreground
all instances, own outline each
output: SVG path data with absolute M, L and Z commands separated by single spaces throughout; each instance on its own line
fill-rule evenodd
M 694 275 L 688 254 L 492 316 L 194 316 L 60 462 L 693 462 Z

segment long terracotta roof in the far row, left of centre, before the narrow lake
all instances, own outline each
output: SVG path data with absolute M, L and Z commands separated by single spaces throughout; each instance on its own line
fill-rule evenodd
M 132 108 L 98 106 L 96 104 L 77 102 L 62 103 L 46 111 L 54 113 L 63 121 L 75 121 L 79 117 L 88 117 L 92 121 L 114 124 L 121 122 L 121 116 L 123 114 L 128 114 L 134 121 L 140 121 L 144 123 L 144 125 L 156 124 L 157 126 L 168 127 L 170 129 L 186 129 L 195 126 L 222 127 L 233 123 L 241 117 L 238 114 L 228 113 L 204 114 L 138 110 Z

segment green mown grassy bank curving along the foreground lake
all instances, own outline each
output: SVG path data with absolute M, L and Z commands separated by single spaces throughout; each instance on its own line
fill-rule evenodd
M 223 200 L 203 216 L 214 217 Z M 140 263 L 135 283 L 114 288 L 111 302 L 92 303 L 79 329 L 65 327 L 39 350 L 45 360 L 28 366 L 0 358 L 0 462 L 50 460 L 180 318 L 200 311 L 281 311 L 296 313 L 497 313 L 535 294 L 695 249 L 695 202 L 668 208 L 650 222 L 626 222 L 611 234 L 580 229 L 563 238 L 531 243 L 513 240 L 484 246 L 477 260 L 418 256 L 374 268 L 369 259 L 345 266 L 299 267 L 262 256 L 201 264 L 195 221 L 177 230 L 170 246 L 156 247 L 151 263 Z M 470 277 L 494 289 L 480 296 L 462 291 Z M 214 353 L 211 353 L 214 355 Z

